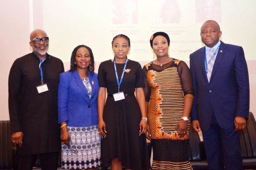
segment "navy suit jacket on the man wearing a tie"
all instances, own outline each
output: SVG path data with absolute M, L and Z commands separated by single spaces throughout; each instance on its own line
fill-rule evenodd
M 205 47 L 190 54 L 195 99 L 191 119 L 202 130 L 210 127 L 212 112 L 223 129 L 234 129 L 234 119 L 249 114 L 249 77 L 243 48 L 221 42 L 210 82 L 205 71 Z

